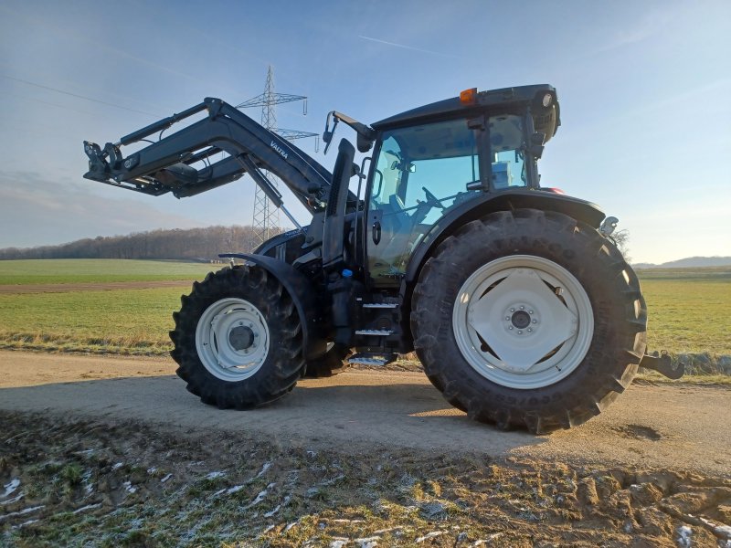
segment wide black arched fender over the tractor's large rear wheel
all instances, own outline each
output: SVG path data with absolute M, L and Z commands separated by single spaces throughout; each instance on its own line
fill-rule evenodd
M 418 278 L 421 266 L 429 258 L 440 242 L 450 236 L 457 228 L 495 211 L 514 209 L 543 209 L 571 216 L 592 227 L 599 227 L 604 213 L 598 205 L 567 195 L 559 195 L 540 190 L 515 189 L 492 193 L 474 198 L 458 205 L 447 215 L 440 218 L 429 229 L 427 235 L 411 253 L 406 271 L 406 282 L 413 283 Z

